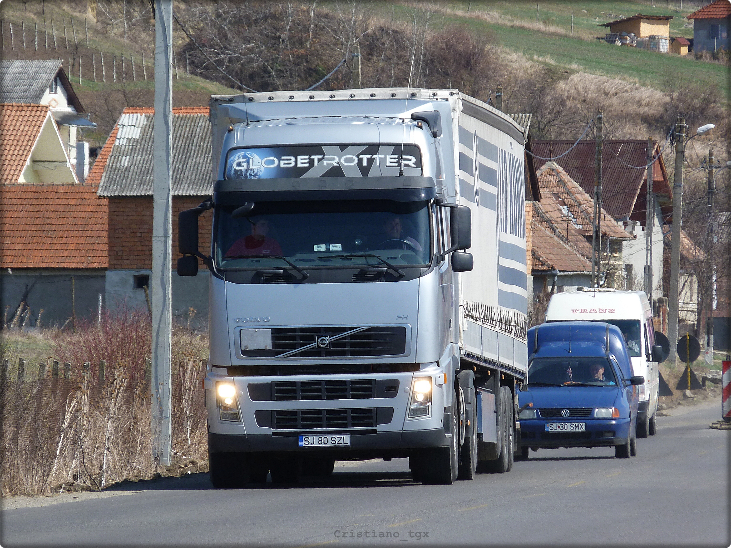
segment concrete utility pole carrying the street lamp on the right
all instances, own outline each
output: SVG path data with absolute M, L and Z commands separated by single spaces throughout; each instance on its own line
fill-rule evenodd
M 675 345 L 678 343 L 678 274 L 681 265 L 681 227 L 683 219 L 683 156 L 685 156 L 685 118 L 675 123 L 675 181 L 673 182 L 673 240 L 670 247 L 670 294 L 668 295 L 667 338 L 670 340 L 670 364 L 675 365 Z

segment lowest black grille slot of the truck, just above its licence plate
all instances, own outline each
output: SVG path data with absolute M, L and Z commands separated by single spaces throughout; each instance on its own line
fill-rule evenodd
M 257 425 L 272 430 L 372 428 L 391 422 L 393 407 L 259 410 L 254 412 L 254 416 Z

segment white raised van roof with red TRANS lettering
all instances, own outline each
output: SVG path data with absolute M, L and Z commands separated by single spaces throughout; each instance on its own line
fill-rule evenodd
M 546 321 L 640 319 L 650 310 L 642 291 L 585 289 L 556 293 L 546 309 Z

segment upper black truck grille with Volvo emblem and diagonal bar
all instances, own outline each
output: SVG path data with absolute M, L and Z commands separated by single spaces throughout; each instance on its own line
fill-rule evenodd
M 399 356 L 405 353 L 406 327 L 402 326 L 275 327 L 271 349 L 241 350 L 245 357 L 291 358 Z

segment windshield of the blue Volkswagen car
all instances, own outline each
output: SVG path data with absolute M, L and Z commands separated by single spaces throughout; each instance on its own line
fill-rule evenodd
M 535 358 L 528 368 L 528 384 L 616 387 L 617 378 L 606 358 Z

